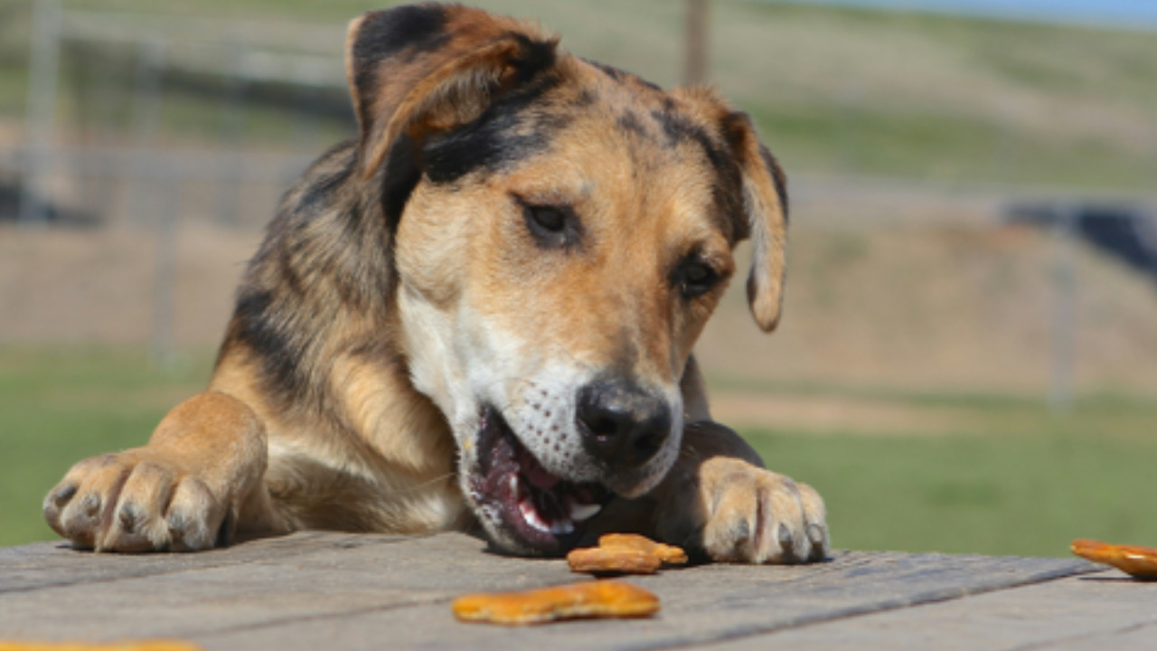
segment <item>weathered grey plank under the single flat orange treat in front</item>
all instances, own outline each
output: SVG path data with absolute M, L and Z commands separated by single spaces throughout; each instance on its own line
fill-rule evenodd
M 928 599 L 995 590 L 1084 569 L 1068 561 L 900 557 L 843 554 L 818 568 L 710 565 L 632 579 L 658 593 L 661 616 L 644 621 L 573 622 L 526 629 L 458 624 L 445 602 L 359 613 L 332 626 L 288 624 L 201 636 L 211 649 L 404 648 L 656 649 L 897 608 Z

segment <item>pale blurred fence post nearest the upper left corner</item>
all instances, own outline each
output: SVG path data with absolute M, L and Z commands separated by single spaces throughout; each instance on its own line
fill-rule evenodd
M 35 0 L 23 174 L 16 217 L 22 225 L 44 224 L 49 219 L 47 185 L 53 167 L 59 65 L 60 6 L 57 0 Z

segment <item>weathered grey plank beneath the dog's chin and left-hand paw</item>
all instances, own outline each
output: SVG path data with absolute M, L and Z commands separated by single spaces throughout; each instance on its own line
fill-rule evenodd
M 398 546 L 406 549 L 395 549 Z M 79 563 L 83 580 L 54 579 L 0 593 L 0 637 L 194 637 L 205 630 L 444 600 L 463 586 L 493 590 L 570 578 L 558 562 L 528 562 L 484 549 L 484 542 L 465 535 L 348 534 L 258 541 L 204 555 L 115 556 L 42 548 L 66 568 L 52 568 L 53 573 Z M 146 568 L 134 568 L 134 559 Z M 101 572 L 90 565 L 101 563 L 109 569 Z M 0 576 L 8 569 L 0 562 Z M 35 572 L 25 575 L 22 583 L 35 584 L 36 578 Z

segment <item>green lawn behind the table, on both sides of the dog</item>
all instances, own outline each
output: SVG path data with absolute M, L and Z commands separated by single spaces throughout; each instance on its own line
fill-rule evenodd
M 199 390 L 208 363 L 200 354 L 161 371 L 124 350 L 0 349 L 0 544 L 52 539 L 39 515 L 45 491 L 83 456 L 143 442 L 169 407 Z M 766 397 L 849 390 L 781 386 Z M 856 396 L 949 408 L 957 425 L 902 437 L 744 430 L 776 470 L 824 493 L 837 547 L 1060 556 L 1079 536 L 1157 543 L 1144 506 L 1155 495 L 1157 404 L 1101 396 L 1054 416 L 1007 396 Z

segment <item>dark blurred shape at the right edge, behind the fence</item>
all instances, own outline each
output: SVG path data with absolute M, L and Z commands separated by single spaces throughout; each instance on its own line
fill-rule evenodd
M 1157 283 L 1157 224 L 1144 209 L 1110 203 L 1023 203 L 1007 211 L 1011 224 L 1070 233 L 1112 254 Z

